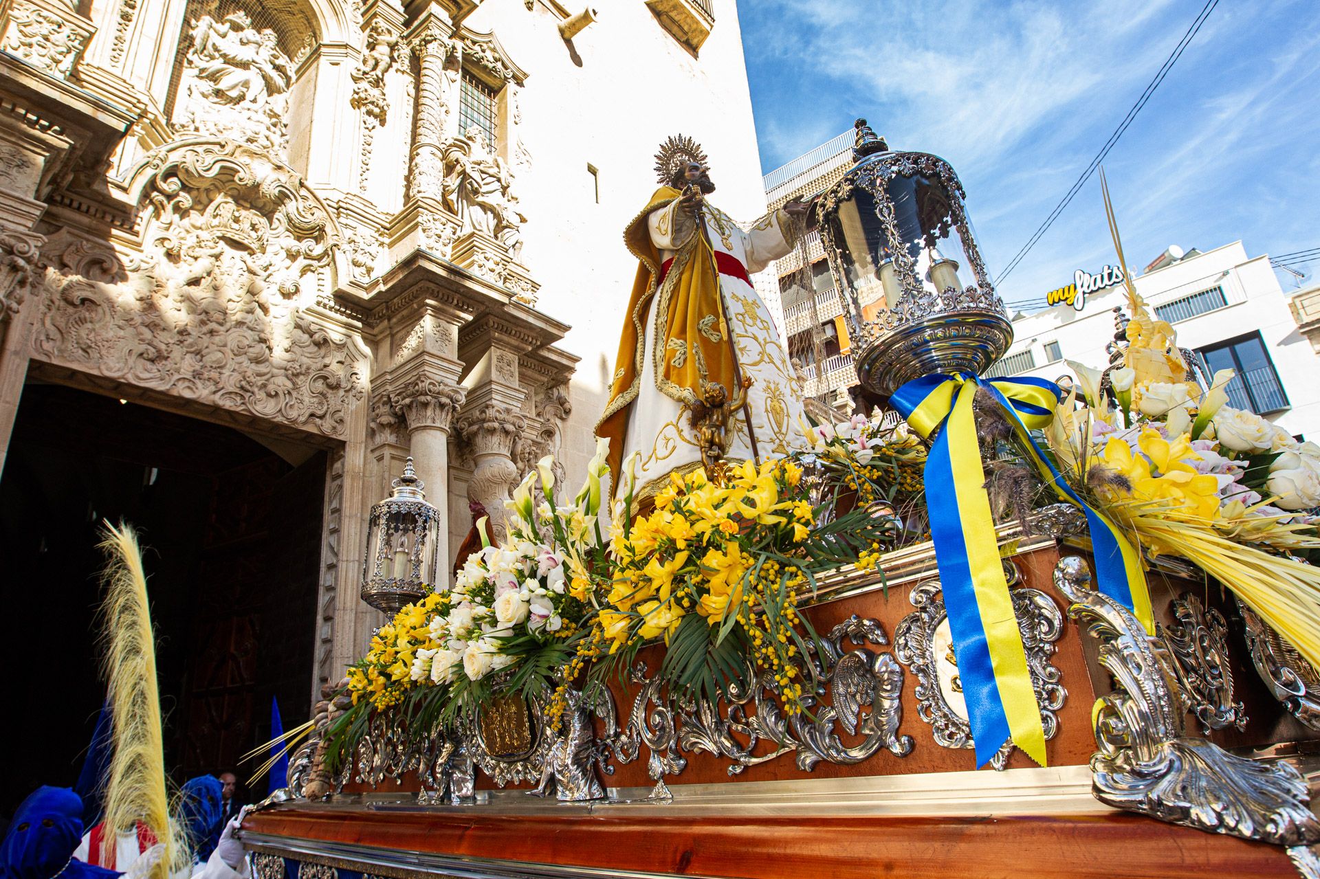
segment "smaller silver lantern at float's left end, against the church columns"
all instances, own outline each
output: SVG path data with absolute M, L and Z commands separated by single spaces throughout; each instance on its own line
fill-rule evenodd
M 362 601 L 389 616 L 422 598 L 430 591 L 428 583 L 436 582 L 442 523 L 422 488 L 408 458 L 391 496 L 371 508 Z

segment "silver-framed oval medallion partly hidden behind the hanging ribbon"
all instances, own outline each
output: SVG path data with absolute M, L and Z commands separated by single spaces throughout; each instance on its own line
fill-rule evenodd
M 916 611 L 904 616 L 895 628 L 894 652 L 917 678 L 917 715 L 931 725 L 936 744 L 945 748 L 973 748 L 975 744 L 972 740 L 972 725 L 958 680 L 953 635 L 940 582 L 929 579 L 917 583 L 908 598 Z M 1049 661 L 1055 653 L 1055 643 L 1063 635 L 1064 618 L 1055 602 L 1035 589 L 1014 589 L 1012 610 L 1022 631 L 1027 670 L 1031 673 L 1031 685 L 1040 705 L 1040 723 L 1048 740 L 1059 731 L 1059 717 L 1055 713 L 1064 706 L 1068 694 L 1060 684 L 1059 669 Z M 1005 742 L 990 764 L 995 769 L 1003 769 L 1012 750 L 1012 742 Z

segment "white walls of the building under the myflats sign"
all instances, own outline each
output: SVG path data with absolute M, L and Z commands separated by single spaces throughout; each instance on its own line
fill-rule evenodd
M 1269 256 L 1247 257 L 1242 242 L 1233 242 L 1142 275 L 1135 284 L 1151 308 L 1222 286 L 1225 308 L 1173 323 L 1179 346 L 1204 348 L 1259 330 L 1290 404 L 1269 418 L 1292 434 L 1320 440 L 1320 358 L 1298 329 Z M 1018 318 L 1008 356 L 1031 348 L 1038 366 L 1022 375 L 1071 376 L 1067 363 L 1045 362 L 1045 344 L 1059 342 L 1064 359 L 1102 368 L 1109 363 L 1105 344 L 1114 337 L 1113 309 L 1125 302 L 1122 288 L 1115 286 L 1089 297 L 1080 313 L 1057 305 Z

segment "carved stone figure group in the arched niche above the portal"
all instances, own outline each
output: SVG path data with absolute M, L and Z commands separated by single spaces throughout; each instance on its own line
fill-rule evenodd
M 213 137 L 232 137 L 284 158 L 293 62 L 279 36 L 257 29 L 239 9 L 216 21 L 190 22 L 174 125 Z

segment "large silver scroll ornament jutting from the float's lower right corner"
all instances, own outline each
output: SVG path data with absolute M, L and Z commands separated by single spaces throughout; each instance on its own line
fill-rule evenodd
M 1068 615 L 1100 639 L 1115 689 L 1097 703 L 1092 789 L 1098 800 L 1162 821 L 1283 846 L 1320 841 L 1305 780 L 1290 764 L 1229 754 L 1187 736 L 1173 659 L 1114 599 L 1090 589 L 1077 557 L 1055 568 Z

